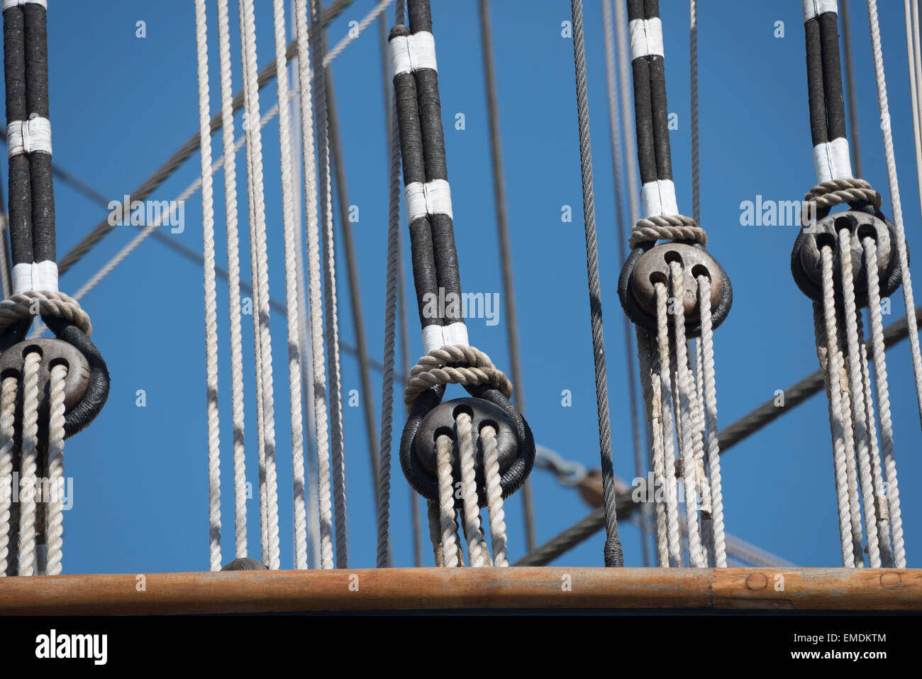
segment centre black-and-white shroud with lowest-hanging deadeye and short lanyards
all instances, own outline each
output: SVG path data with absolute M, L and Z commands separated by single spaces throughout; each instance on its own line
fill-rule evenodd
M 508 378 L 487 354 L 468 344 L 431 9 L 428 0 L 409 0 L 407 9 L 409 26 L 398 8 L 389 46 L 425 355 L 408 376 L 404 400 L 409 416 L 400 441 L 400 465 L 410 485 L 431 503 L 437 564 L 462 562 L 456 524 L 460 510 L 470 565 L 491 565 L 479 518 L 480 509 L 487 507 L 493 560 L 506 566 L 502 499 L 525 482 L 535 443 L 525 418 L 509 402 Z M 462 385 L 475 398 L 440 405 L 448 384 Z M 379 532 L 379 538 L 384 534 Z M 379 541 L 379 566 L 382 554 Z

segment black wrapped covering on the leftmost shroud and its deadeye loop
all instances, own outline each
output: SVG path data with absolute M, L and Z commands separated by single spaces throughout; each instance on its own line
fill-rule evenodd
M 8 6 L 4 19 L 6 121 L 49 120 L 47 11 L 40 3 Z M 7 140 L 7 144 L 10 141 Z M 55 262 L 52 154 L 29 149 L 9 160 L 9 234 L 14 265 Z M 99 414 L 109 395 L 110 378 L 100 351 L 77 326 L 42 316 L 55 337 L 82 352 L 89 363 L 83 398 L 65 412 L 65 436 L 76 434 Z M 0 337 L 0 350 L 24 339 L 30 319 L 14 323 Z

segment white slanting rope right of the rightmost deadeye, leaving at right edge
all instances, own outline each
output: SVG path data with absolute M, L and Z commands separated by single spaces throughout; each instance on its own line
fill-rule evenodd
M 890 104 L 887 102 L 887 80 L 883 70 L 881 48 L 881 26 L 877 17 L 876 0 L 868 0 L 868 23 L 871 51 L 874 56 L 874 79 L 877 82 L 877 101 L 881 109 L 881 134 L 883 154 L 887 162 L 887 184 L 890 185 L 890 202 L 893 209 L 893 226 L 896 228 L 896 253 L 903 273 L 903 302 L 906 310 L 906 324 L 909 334 L 909 351 L 913 359 L 913 375 L 916 379 L 916 405 L 922 423 L 922 353 L 919 351 L 918 328 L 916 325 L 916 302 L 913 299 L 913 285 L 909 275 L 909 256 L 906 252 L 906 236 L 903 226 L 903 207 L 900 202 L 900 185 L 896 173 L 896 157 L 893 154 L 893 133 L 890 123 Z

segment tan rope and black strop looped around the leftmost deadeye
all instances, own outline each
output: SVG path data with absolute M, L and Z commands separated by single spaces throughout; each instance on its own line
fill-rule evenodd
M 89 363 L 87 391 L 76 405 L 65 412 L 65 436 L 77 434 L 91 423 L 109 397 L 110 378 L 106 362 L 89 339 L 93 332 L 89 315 L 73 297 L 64 292 L 18 292 L 0 302 L 0 337 L 8 347 L 24 339 L 34 316 L 58 340 L 74 346 Z

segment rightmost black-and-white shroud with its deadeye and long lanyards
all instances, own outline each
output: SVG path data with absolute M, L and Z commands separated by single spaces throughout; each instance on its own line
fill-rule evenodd
M 874 42 L 877 22 L 872 1 L 869 1 L 869 18 Z M 837 3 L 803 0 L 803 19 L 810 135 L 818 184 L 804 197 L 803 228 L 791 254 L 791 271 L 800 290 L 813 301 L 817 354 L 829 400 L 842 563 L 865 565 L 866 535 L 869 566 L 904 567 L 881 322 L 881 298 L 896 292 L 901 283 L 906 304 L 912 304 L 902 218 L 898 220 L 899 228 L 887 220 L 881 213 L 880 194 L 852 172 L 845 135 Z M 879 32 L 876 41 L 875 70 L 880 94 L 883 66 Z M 885 112 L 885 96 L 884 90 L 881 114 Z M 889 129 L 889 114 L 887 117 L 881 127 Z M 886 130 L 884 138 L 887 139 Z M 890 160 L 892 150 L 888 153 Z M 831 214 L 831 209 L 841 204 L 846 204 L 846 209 Z M 898 198 L 894 200 L 894 214 L 897 212 Z M 867 346 L 861 312 L 865 306 L 871 334 Z M 911 340 L 914 335 L 915 332 L 910 333 Z M 918 387 L 917 340 L 912 347 Z M 875 421 L 869 352 L 874 363 L 880 435 Z

